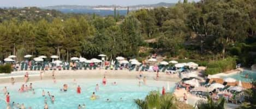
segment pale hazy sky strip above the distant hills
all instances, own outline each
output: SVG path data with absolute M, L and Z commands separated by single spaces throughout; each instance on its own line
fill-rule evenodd
M 45 7 L 50 5 L 136 5 L 159 2 L 177 3 L 179 0 L 0 0 L 0 7 Z M 183 0 L 181 0 L 183 1 Z M 190 0 L 192 1 L 192 0 Z

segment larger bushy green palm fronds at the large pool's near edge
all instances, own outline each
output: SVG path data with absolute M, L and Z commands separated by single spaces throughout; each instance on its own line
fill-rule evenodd
M 175 100 L 171 93 L 161 95 L 151 92 L 144 100 L 136 99 L 134 101 L 140 109 L 176 109 Z

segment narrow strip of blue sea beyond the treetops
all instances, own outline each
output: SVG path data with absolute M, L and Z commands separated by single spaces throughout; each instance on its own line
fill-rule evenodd
M 114 15 L 114 10 L 96 10 L 96 9 L 57 9 L 63 13 L 76 13 L 76 14 L 93 14 L 100 16 Z M 117 10 L 116 14 L 119 12 L 121 15 L 127 15 L 127 10 Z

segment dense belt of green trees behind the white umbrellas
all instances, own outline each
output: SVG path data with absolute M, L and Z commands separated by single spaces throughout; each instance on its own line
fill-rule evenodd
M 104 53 L 111 59 L 156 52 L 200 61 L 238 56 L 237 61 L 249 66 L 256 62 L 255 5 L 254 0 L 184 1 L 170 8 L 131 11 L 123 18 L 1 9 L 0 58 L 57 54 L 69 60 Z

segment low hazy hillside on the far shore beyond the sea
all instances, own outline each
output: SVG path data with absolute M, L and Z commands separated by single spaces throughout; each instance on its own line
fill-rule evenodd
M 175 5 L 175 3 L 157 3 L 157 4 L 140 4 L 140 5 L 131 5 L 128 6 L 130 10 L 138 10 L 142 8 L 146 9 L 152 9 L 152 8 L 157 8 L 157 7 L 171 7 Z M 122 10 L 122 9 L 127 9 L 127 7 L 123 7 L 120 5 L 95 5 L 95 6 L 90 6 L 90 5 L 54 5 L 50 7 L 43 7 L 44 9 L 98 9 L 98 10 L 113 10 L 114 7 L 116 9 Z

